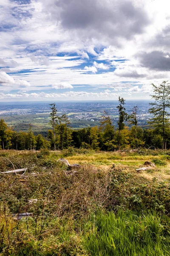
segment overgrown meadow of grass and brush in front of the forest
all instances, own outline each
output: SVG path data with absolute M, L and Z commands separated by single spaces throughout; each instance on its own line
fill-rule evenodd
M 0 151 L 0 172 L 14 168 L 27 170 L 0 174 L 0 256 L 170 255 L 170 151 Z

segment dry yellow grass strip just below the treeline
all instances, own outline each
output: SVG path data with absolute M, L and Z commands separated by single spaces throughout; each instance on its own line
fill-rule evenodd
M 157 180 L 170 179 L 170 162 L 166 161 L 167 166 L 156 166 L 147 171 L 136 172 L 136 169 L 143 167 L 145 161 L 152 161 L 153 159 L 164 160 L 164 155 L 126 155 L 125 153 L 117 152 L 101 152 L 94 154 L 78 154 L 66 157 L 69 163 L 92 164 L 98 168 L 110 169 L 113 164 L 117 168 L 124 169 L 125 172 L 131 172 L 148 180 L 156 177 Z

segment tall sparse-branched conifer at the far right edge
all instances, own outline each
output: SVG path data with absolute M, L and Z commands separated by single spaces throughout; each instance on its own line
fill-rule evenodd
M 154 95 L 151 97 L 154 102 L 149 103 L 151 106 L 149 113 L 153 114 L 153 118 L 148 123 L 162 136 L 162 149 L 164 149 L 170 124 L 170 83 L 163 81 L 159 85 L 152 84 L 152 86 Z

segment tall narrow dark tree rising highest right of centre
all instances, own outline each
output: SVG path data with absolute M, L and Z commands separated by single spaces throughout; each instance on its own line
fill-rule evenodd
M 120 141 L 121 141 L 121 134 L 120 131 L 123 130 L 125 127 L 124 121 L 127 121 L 127 113 L 125 112 L 125 100 L 123 98 L 120 98 L 119 96 L 119 105 L 116 107 L 119 112 L 119 121 L 118 124 L 118 130 L 119 130 L 119 136 L 118 136 L 118 149 L 120 148 Z

